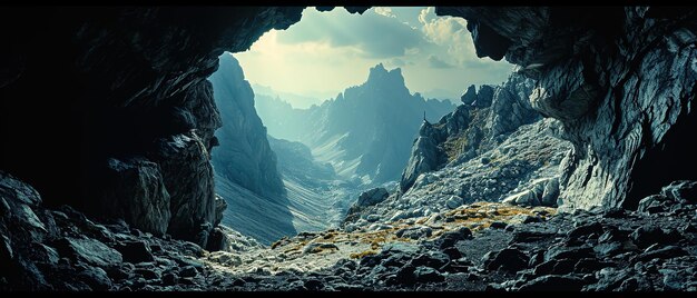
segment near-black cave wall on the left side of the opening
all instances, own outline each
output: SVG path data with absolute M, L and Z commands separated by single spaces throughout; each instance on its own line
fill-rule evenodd
M 205 245 L 222 125 L 206 78 L 302 9 L 3 8 L 0 168 L 46 205 Z

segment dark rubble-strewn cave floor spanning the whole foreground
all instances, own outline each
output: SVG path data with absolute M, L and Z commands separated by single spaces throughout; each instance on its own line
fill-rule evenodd
M 697 290 L 697 182 L 637 211 L 474 202 L 271 247 L 227 231 L 230 252 L 209 252 L 1 178 L 3 290 Z

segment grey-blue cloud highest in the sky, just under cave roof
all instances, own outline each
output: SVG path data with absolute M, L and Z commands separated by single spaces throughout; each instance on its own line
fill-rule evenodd
M 381 13 L 389 12 L 381 10 Z M 288 28 L 284 34 L 278 34 L 278 42 L 324 42 L 334 48 L 353 47 L 364 58 L 401 57 L 426 42 L 420 30 L 381 13 L 367 10 L 361 16 L 351 14 L 344 9 L 328 12 L 306 9 L 301 22 Z

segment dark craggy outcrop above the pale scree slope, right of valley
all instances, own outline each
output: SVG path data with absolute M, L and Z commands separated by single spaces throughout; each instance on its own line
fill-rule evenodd
M 400 187 L 405 192 L 419 175 L 462 163 L 492 149 L 507 135 L 541 117 L 530 107 L 533 82 L 512 74 L 502 86 L 470 86 L 455 111 L 438 123 L 424 121 L 412 147 Z

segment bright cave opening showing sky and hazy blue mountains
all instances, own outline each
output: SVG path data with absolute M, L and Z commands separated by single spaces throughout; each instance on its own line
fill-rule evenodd
M 433 7 L 306 8 L 300 22 L 224 53 L 209 80 L 223 224 L 269 242 L 341 225 L 359 195 L 394 192 L 424 118 L 512 66 L 479 59 L 461 18 Z

